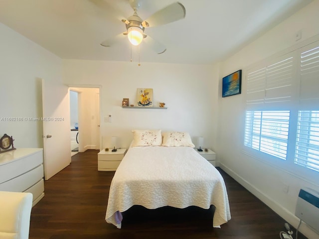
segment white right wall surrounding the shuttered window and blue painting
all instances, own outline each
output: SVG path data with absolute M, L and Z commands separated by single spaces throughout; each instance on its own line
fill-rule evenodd
M 299 190 L 301 187 L 310 187 L 319 191 L 319 174 L 312 180 L 306 180 L 296 177 L 294 172 L 288 172 L 285 168 L 266 164 L 242 152 L 245 69 L 319 34 L 318 10 L 319 0 L 315 0 L 220 64 L 219 95 L 222 77 L 243 69 L 242 94 L 227 98 L 219 97 L 218 101 L 219 144 L 216 151 L 220 166 L 294 227 L 297 227 L 299 222 L 294 216 Z M 302 30 L 302 39 L 296 42 L 295 34 L 299 30 Z M 229 150 L 230 147 L 232 150 Z M 289 186 L 288 193 L 283 192 L 285 185 Z M 319 238 L 319 235 L 305 224 L 302 224 L 301 232 L 308 238 Z

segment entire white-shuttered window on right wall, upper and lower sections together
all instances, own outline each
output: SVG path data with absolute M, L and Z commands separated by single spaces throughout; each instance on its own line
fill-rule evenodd
M 272 56 L 243 73 L 244 150 L 302 177 L 317 174 L 319 41 Z

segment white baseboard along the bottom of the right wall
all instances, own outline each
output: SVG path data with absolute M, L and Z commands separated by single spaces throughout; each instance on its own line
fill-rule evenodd
M 236 180 L 239 184 L 241 184 L 244 188 L 246 188 L 249 192 L 251 192 L 254 196 L 256 196 L 263 203 L 265 203 L 268 207 L 270 207 L 280 217 L 286 220 L 290 225 L 292 225 L 294 228 L 298 227 L 300 219 L 297 218 L 294 214 L 289 212 L 282 205 L 278 204 L 277 202 L 269 198 L 266 194 L 261 192 L 258 188 L 250 184 L 248 181 L 246 181 L 244 178 L 242 178 L 240 175 L 235 173 L 233 170 L 228 168 L 223 163 L 219 162 L 219 167 L 222 170 L 224 170 L 229 176 L 231 176 L 234 180 Z M 299 231 L 309 239 L 319 239 L 319 235 L 316 232 L 314 232 L 311 228 L 309 228 L 305 223 L 302 223 L 301 227 L 299 228 Z

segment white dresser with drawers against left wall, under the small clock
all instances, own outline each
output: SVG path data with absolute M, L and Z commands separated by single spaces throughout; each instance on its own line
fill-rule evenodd
M 29 192 L 34 206 L 44 197 L 43 149 L 18 148 L 0 153 L 0 191 Z

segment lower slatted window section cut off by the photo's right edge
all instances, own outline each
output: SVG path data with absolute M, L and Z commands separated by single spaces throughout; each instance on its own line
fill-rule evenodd
M 319 171 L 319 111 L 299 111 L 295 163 Z

